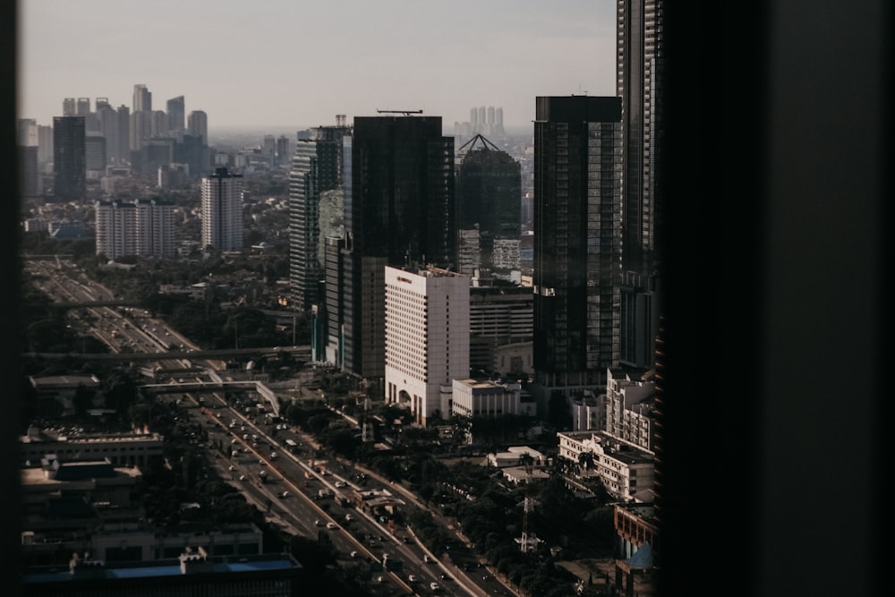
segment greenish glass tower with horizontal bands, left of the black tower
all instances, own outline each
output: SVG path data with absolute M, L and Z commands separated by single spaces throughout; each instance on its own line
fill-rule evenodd
M 310 132 L 311 139 L 295 142 L 289 172 L 289 284 L 293 303 L 304 311 L 320 301 L 320 195 L 339 185 L 343 137 L 351 129 L 321 126 Z

